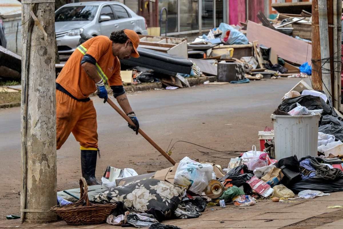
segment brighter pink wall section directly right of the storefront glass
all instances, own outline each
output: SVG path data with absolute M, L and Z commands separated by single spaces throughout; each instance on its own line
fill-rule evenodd
M 237 25 L 240 21 L 246 19 L 246 1 L 245 0 L 228 0 L 229 2 L 229 24 Z

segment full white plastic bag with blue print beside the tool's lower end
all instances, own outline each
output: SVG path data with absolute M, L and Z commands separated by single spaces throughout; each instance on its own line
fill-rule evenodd
M 201 164 L 189 157 L 184 157 L 176 169 L 174 184 L 185 186 L 200 195 L 212 180 L 212 172 L 211 164 Z

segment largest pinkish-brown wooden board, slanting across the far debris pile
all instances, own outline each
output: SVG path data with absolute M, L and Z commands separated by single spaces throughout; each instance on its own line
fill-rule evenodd
M 306 61 L 311 63 L 312 46 L 294 37 L 248 21 L 247 38 L 250 42 L 258 40 L 259 44 L 271 47 L 279 57 L 289 62 L 299 65 Z

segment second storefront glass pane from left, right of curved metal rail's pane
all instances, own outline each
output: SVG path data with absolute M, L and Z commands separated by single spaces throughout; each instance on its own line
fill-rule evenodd
M 180 31 L 198 30 L 198 0 L 180 0 Z

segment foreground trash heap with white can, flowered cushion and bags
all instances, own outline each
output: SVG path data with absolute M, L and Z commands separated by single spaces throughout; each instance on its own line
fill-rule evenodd
M 280 101 L 271 115 L 274 127 L 258 134 L 260 149 L 253 146 L 230 159 L 225 169 L 220 161 L 189 157 L 140 175 L 108 166 L 102 185 L 87 187 L 83 198 L 97 206 L 115 204 L 108 224 L 155 228 L 166 219 L 197 218 L 206 206 L 252 206 L 258 199 L 282 202 L 343 191 L 343 118 L 330 97 L 301 80 Z M 58 192 L 59 203 L 76 202 L 79 195 L 78 189 Z

